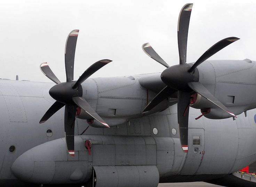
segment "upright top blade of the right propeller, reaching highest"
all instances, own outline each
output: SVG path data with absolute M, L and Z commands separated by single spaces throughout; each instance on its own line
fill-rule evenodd
M 189 32 L 189 21 L 193 4 L 184 5 L 179 13 L 178 19 L 178 48 L 179 48 L 179 64 L 186 63 L 187 56 L 187 34 Z

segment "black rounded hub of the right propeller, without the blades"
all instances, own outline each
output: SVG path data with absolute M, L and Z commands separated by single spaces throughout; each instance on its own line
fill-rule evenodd
M 178 64 L 170 66 L 162 72 L 161 79 L 170 88 L 190 92 L 192 90 L 187 86 L 187 83 L 191 81 L 199 81 L 197 69 L 193 73 L 188 72 L 191 66 L 192 64 Z

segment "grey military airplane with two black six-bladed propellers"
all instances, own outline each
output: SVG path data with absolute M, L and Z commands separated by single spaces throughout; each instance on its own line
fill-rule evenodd
M 0 186 L 239 186 L 232 173 L 256 161 L 255 61 L 207 60 L 239 39 L 229 37 L 187 63 L 192 6 L 179 14 L 179 64 L 142 46 L 163 72 L 89 78 L 111 63 L 103 59 L 75 81 L 76 29 L 66 40 L 66 82 L 46 62 L 40 69 L 53 83 L 1 79 Z

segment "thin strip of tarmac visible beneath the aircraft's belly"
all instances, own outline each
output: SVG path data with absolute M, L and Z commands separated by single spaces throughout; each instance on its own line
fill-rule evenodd
M 179 182 L 179 183 L 161 183 L 158 187 L 222 187 L 218 185 L 209 184 L 206 182 Z

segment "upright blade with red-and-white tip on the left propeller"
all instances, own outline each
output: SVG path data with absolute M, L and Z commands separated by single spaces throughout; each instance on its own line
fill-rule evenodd
M 77 45 L 77 37 L 79 30 L 72 30 L 67 37 L 65 46 L 65 69 L 67 82 L 74 79 L 74 59 L 75 59 L 75 46 Z

